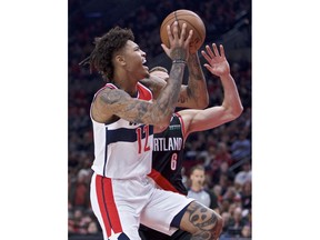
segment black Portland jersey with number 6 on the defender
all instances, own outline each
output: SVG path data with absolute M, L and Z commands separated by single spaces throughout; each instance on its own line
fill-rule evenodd
M 153 136 L 152 171 L 149 174 L 164 190 L 188 193 L 182 183 L 183 121 L 174 113 L 170 126 Z

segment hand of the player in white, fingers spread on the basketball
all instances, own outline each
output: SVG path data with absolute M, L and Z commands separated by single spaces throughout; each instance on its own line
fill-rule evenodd
M 182 24 L 181 34 L 179 36 L 178 21 L 173 22 L 173 33 L 171 32 L 170 26 L 167 26 L 168 38 L 170 43 L 170 49 L 166 44 L 161 44 L 162 49 L 169 58 L 172 60 L 183 60 L 187 61 L 189 58 L 189 44 L 193 34 L 190 30 L 188 38 L 186 38 L 187 24 Z

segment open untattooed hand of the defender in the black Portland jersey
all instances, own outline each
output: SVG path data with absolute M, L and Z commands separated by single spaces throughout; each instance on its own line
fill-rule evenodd
M 212 50 L 209 46 L 206 46 L 206 51 L 201 51 L 204 59 L 208 61 L 208 63 L 204 63 L 204 67 L 212 73 L 218 77 L 229 74 L 230 73 L 230 66 L 226 59 L 224 56 L 224 49 L 223 46 L 220 44 L 220 53 L 218 51 L 218 48 L 216 43 L 212 43 Z

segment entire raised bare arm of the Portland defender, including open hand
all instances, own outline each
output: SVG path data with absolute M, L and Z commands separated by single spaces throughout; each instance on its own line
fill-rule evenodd
M 183 118 L 186 133 L 203 131 L 216 128 L 238 118 L 242 112 L 242 104 L 237 86 L 230 73 L 230 67 L 224 56 L 224 49 L 220 46 L 220 53 L 217 46 L 212 44 L 212 50 L 206 46 L 202 56 L 208 63 L 204 67 L 212 73 L 220 77 L 224 98 L 221 106 L 211 107 L 204 110 L 182 110 L 179 113 Z

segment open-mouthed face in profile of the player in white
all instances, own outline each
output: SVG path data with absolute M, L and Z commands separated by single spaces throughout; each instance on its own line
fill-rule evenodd
M 146 52 L 143 52 L 136 42 L 128 40 L 124 47 L 123 58 L 126 70 L 131 77 L 138 79 L 149 77 L 149 68 L 144 66 L 147 63 L 146 56 Z

